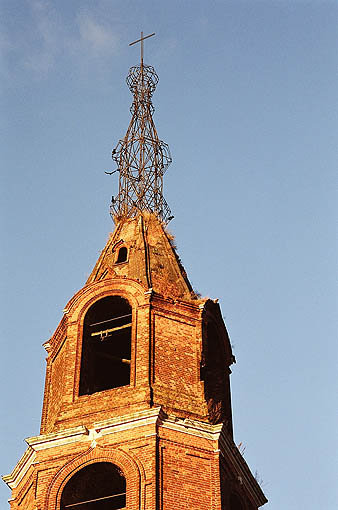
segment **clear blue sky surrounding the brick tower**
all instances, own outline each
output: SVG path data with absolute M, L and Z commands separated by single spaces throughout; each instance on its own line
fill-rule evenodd
M 104 171 L 143 30 L 170 230 L 237 358 L 235 441 L 264 508 L 336 510 L 337 1 L 2 0 L 1 19 L 1 473 L 39 432 L 41 344 L 113 228 Z

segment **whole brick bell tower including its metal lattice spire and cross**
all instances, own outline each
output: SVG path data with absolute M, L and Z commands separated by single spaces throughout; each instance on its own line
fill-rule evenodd
M 157 81 L 142 48 L 127 77 L 132 119 L 113 150 L 115 230 L 44 344 L 40 435 L 3 477 L 11 510 L 256 510 L 266 502 L 233 441 L 234 356 L 219 305 L 195 295 L 165 228 L 171 157 L 152 119 Z

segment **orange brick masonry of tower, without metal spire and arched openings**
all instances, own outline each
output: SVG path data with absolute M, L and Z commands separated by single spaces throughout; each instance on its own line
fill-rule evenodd
M 106 296 L 132 308 L 130 384 L 79 396 L 84 318 Z M 41 435 L 6 477 L 11 510 L 59 510 L 68 480 L 95 462 L 122 470 L 128 510 L 232 510 L 234 492 L 243 510 L 264 503 L 232 440 L 219 306 L 196 298 L 154 216 L 117 226 L 45 347 Z

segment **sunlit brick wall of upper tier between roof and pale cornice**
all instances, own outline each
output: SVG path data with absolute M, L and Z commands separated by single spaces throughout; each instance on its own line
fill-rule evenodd
M 79 397 L 84 316 L 107 295 L 125 297 L 133 308 L 131 384 Z M 42 433 L 145 409 L 152 398 L 169 412 L 209 419 L 200 380 L 202 311 L 197 303 L 150 295 L 126 279 L 104 280 L 74 296 L 63 325 L 50 341 Z

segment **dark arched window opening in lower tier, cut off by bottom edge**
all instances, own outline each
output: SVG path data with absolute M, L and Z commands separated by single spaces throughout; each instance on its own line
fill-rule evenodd
M 126 479 L 110 462 L 84 467 L 66 483 L 61 510 L 121 510 L 126 507 Z

